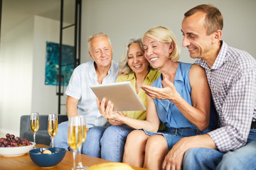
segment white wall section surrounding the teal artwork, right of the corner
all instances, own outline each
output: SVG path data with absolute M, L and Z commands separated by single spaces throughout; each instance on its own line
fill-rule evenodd
M 74 45 L 74 28 L 63 30 L 63 44 Z M 33 38 L 33 92 L 32 112 L 41 115 L 58 113 L 58 96 L 56 86 L 45 85 L 46 77 L 46 41 L 60 42 L 60 22 L 35 16 Z M 65 92 L 65 91 L 64 91 Z M 66 96 L 61 98 L 65 104 Z M 61 106 L 61 114 L 65 114 L 65 106 Z

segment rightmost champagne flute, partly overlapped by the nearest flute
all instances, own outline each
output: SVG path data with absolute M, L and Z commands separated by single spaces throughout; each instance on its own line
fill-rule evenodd
M 86 139 L 86 134 L 87 134 L 87 130 L 86 130 L 86 118 L 85 115 L 78 115 L 78 118 L 80 118 L 81 123 L 82 123 L 82 143 L 85 142 Z M 87 169 L 87 166 L 82 166 L 82 161 L 81 161 L 81 149 L 82 149 L 82 145 L 80 145 L 80 147 L 78 147 L 78 152 L 79 152 L 79 161 L 78 161 L 78 166 L 77 169 Z

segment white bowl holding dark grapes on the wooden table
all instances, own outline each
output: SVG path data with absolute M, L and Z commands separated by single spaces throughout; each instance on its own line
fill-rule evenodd
M 17 157 L 28 153 L 36 145 L 35 142 L 31 142 L 32 145 L 24 147 L 0 147 L 0 155 L 4 157 Z

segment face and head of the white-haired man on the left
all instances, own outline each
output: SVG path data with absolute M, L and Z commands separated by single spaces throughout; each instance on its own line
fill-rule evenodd
M 90 42 L 89 54 L 97 67 L 110 67 L 113 54 L 110 40 L 105 36 L 93 38 Z

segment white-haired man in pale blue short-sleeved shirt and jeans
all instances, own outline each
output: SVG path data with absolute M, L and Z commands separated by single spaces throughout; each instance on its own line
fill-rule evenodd
M 112 45 L 110 38 L 105 33 L 91 35 L 88 39 L 88 47 L 92 60 L 82 63 L 74 69 L 65 91 L 67 95 L 66 108 L 68 117 L 86 116 L 86 127 L 90 130 L 82 144 L 82 154 L 100 157 L 100 139 L 110 124 L 100 114 L 96 96 L 90 86 L 114 83 L 119 73 L 119 64 L 112 60 Z M 58 126 L 54 143 L 55 147 L 69 148 L 68 121 L 60 123 Z

